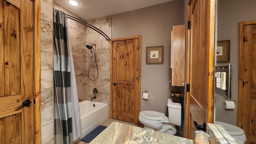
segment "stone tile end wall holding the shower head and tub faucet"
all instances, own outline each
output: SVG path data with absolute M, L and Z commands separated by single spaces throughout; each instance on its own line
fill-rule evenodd
M 102 32 L 107 34 L 109 38 L 111 38 L 111 19 L 111 16 L 105 16 L 102 18 L 89 20 L 87 22 L 100 29 Z M 96 46 L 93 46 L 93 48 L 96 53 L 96 61 L 98 65 L 98 79 L 92 81 L 97 76 L 97 69 L 93 56 L 89 72 L 89 76 L 92 80 L 90 80 L 88 75 L 86 75 L 85 98 L 86 100 L 89 100 L 90 97 L 93 97 L 94 94 L 92 90 L 93 88 L 97 88 L 98 94 L 94 101 L 110 104 L 110 42 L 107 41 L 104 36 L 100 35 L 98 32 L 86 27 L 86 44 L 96 44 Z M 90 52 L 86 55 L 86 70 L 89 69 L 91 56 L 92 54 Z

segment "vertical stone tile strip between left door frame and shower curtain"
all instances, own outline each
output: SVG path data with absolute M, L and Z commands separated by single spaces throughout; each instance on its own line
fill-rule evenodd
M 41 0 L 41 126 L 42 144 L 54 144 L 52 0 Z

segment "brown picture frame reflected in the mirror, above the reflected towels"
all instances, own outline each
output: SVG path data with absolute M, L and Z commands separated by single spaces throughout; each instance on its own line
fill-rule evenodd
M 216 62 L 230 62 L 230 40 L 218 41 L 216 46 Z

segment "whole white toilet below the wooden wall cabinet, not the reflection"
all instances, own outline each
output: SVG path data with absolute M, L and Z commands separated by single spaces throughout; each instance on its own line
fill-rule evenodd
M 174 135 L 177 130 L 175 125 L 181 126 L 181 105 L 180 103 L 172 102 L 168 98 L 167 102 L 169 117 L 164 113 L 155 111 L 141 111 L 139 115 L 140 123 L 144 124 L 144 128 L 148 130 L 155 130 L 166 134 Z

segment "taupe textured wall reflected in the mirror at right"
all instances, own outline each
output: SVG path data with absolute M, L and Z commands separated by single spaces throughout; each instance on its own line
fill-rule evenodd
M 232 99 L 238 100 L 238 56 L 239 56 L 239 22 L 256 20 L 255 0 L 218 0 L 217 5 L 217 40 L 230 40 L 230 62 L 233 64 Z M 237 104 L 234 110 L 226 110 L 224 98 L 216 96 L 216 120 L 236 126 Z

